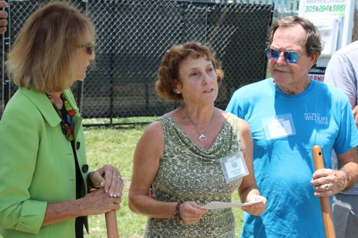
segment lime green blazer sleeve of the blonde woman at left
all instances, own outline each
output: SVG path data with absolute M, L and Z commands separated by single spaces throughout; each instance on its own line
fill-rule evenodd
M 34 200 L 29 189 L 39 148 L 34 117 L 42 116 L 8 106 L 0 121 L 0 227 L 37 234 L 47 202 Z

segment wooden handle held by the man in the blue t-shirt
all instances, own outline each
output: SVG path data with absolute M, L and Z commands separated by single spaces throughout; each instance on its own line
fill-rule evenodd
M 313 162 L 315 170 L 324 169 L 325 165 L 323 163 L 322 150 L 320 146 L 312 147 Z M 329 196 L 320 196 L 319 202 L 322 210 L 323 225 L 325 226 L 325 232 L 327 238 L 335 238 L 333 219 L 332 219 L 332 210 L 331 202 Z

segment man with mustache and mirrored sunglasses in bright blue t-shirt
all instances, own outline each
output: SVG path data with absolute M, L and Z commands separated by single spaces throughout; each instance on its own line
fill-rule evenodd
M 226 109 L 250 126 L 256 181 L 267 198 L 261 216 L 244 212 L 241 237 L 326 237 L 319 197 L 358 180 L 358 130 L 347 96 L 308 77 L 323 49 L 310 21 L 278 19 L 268 41 L 272 78 L 237 90 Z M 325 168 L 331 168 L 334 149 L 340 169 L 315 172 L 314 145 L 322 149 Z

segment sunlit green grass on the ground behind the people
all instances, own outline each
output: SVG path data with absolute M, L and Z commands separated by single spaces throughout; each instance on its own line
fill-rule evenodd
M 147 118 L 148 121 L 155 117 Z M 139 120 L 140 121 L 140 120 Z M 146 120 L 144 120 L 145 122 Z M 117 120 L 116 123 L 123 121 Z M 84 124 L 108 123 L 99 120 L 84 120 Z M 131 184 L 132 162 L 135 146 L 147 124 L 123 125 L 108 127 L 84 127 L 86 140 L 87 163 L 90 168 L 97 169 L 105 164 L 112 164 L 121 172 L 125 186 L 123 190 L 121 208 L 117 211 L 118 233 L 121 238 L 143 237 L 146 229 L 147 217 L 137 215 L 128 208 L 128 190 Z M 232 196 L 233 202 L 240 202 L 237 193 Z M 242 210 L 232 209 L 236 220 L 236 237 L 242 230 Z M 85 238 L 106 238 L 106 226 L 103 215 L 88 217 L 89 234 Z M 0 238 L 2 236 L 0 235 Z

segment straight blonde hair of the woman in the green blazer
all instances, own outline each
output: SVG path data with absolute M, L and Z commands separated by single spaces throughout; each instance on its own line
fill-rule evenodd
M 19 87 L 59 92 L 75 82 L 76 49 L 95 27 L 75 7 L 61 2 L 45 5 L 25 22 L 6 62 L 9 76 Z

